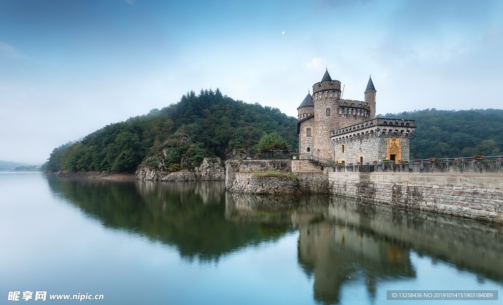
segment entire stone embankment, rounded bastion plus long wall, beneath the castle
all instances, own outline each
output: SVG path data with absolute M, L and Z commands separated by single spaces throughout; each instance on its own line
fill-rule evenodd
M 308 160 L 231 160 L 225 163 L 225 170 L 225 189 L 235 193 L 331 193 L 377 205 L 503 224 L 501 160 L 335 168 Z M 284 175 L 257 174 L 266 170 Z

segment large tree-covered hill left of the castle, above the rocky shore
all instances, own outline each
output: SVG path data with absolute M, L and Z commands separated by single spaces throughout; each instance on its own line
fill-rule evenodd
M 142 160 L 163 155 L 171 170 L 193 168 L 204 157 L 224 158 L 228 153 L 256 152 L 262 136 L 273 131 L 298 146 L 297 119 L 279 109 L 245 104 L 217 89 L 194 91 L 177 104 L 148 115 L 108 125 L 77 143 L 55 148 L 47 170 L 129 171 Z

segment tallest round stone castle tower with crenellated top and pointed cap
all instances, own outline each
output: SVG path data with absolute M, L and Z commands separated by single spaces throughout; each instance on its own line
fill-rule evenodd
M 337 119 L 340 96 L 341 82 L 332 80 L 327 69 L 321 81 L 313 85 L 315 149 L 313 155 L 320 159 L 332 160 L 334 148 L 330 142 L 330 132 L 343 127 Z

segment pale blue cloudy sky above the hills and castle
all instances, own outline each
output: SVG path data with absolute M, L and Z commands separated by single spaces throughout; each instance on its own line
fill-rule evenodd
M 0 160 L 219 88 L 297 115 L 328 69 L 378 114 L 501 109 L 503 1 L 0 0 Z

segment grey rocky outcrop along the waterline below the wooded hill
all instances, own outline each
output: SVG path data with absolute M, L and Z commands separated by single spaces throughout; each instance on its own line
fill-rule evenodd
M 221 181 L 225 180 L 225 170 L 220 158 L 204 158 L 194 170 L 170 172 L 145 165 L 138 168 L 134 178 L 154 181 Z

